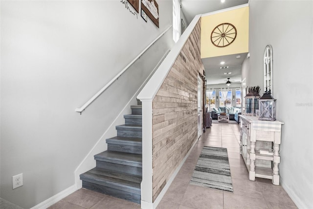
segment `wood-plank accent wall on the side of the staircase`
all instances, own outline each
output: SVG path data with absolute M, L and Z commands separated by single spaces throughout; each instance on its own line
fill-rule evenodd
M 199 21 L 153 100 L 153 201 L 197 140 L 200 37 Z

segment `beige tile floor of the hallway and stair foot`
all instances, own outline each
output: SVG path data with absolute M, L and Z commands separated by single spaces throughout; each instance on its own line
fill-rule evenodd
M 234 192 L 189 184 L 203 146 L 227 148 Z M 282 186 L 266 179 L 248 180 L 246 165 L 239 154 L 238 125 L 212 124 L 200 137 L 157 209 L 243 208 L 296 209 L 296 206 Z M 49 209 L 140 209 L 140 205 L 80 189 Z

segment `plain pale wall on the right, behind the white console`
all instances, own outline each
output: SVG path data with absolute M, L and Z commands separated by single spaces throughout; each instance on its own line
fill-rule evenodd
M 250 0 L 249 6 L 250 75 L 243 76 L 248 86 L 263 90 L 263 53 L 266 45 L 272 45 L 276 118 L 285 122 L 281 184 L 298 208 L 309 209 L 313 206 L 313 1 Z

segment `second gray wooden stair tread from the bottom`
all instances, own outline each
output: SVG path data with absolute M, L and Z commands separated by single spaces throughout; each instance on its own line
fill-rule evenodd
M 142 167 L 142 155 L 139 154 L 104 151 L 95 155 L 94 158 L 96 160 Z

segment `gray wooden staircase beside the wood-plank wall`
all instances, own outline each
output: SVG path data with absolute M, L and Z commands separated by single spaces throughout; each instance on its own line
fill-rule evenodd
M 141 104 L 131 108 L 132 114 L 124 115 L 125 125 L 116 126 L 117 136 L 106 139 L 108 150 L 94 156 L 96 167 L 81 174 L 80 179 L 83 188 L 140 204 Z

